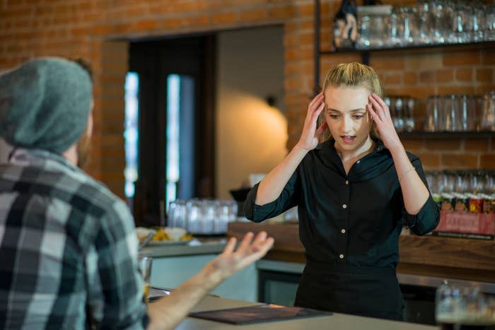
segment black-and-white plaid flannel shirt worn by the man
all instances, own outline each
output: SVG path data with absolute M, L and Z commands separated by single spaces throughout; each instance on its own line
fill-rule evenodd
M 0 165 L 0 329 L 143 329 L 134 220 L 65 158 Z

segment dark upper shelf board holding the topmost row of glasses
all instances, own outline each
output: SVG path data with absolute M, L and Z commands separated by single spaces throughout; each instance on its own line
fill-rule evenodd
M 407 45 L 404 47 L 375 47 L 375 48 L 347 48 L 347 49 L 332 49 L 332 50 L 321 50 L 320 55 L 330 55 L 330 54 L 339 54 L 339 53 L 368 53 L 368 52 L 387 52 L 394 50 L 414 50 L 414 49 L 449 49 L 462 47 L 465 48 L 473 48 L 473 49 L 487 49 L 488 47 L 495 47 L 495 40 L 490 41 L 482 41 L 482 42 L 463 42 L 463 43 L 443 43 L 443 44 L 425 44 L 425 45 Z

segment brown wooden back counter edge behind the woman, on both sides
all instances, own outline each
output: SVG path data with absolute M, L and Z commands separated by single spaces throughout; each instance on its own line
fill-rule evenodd
M 297 223 L 228 224 L 228 235 L 238 238 L 245 232 L 261 230 L 275 239 L 274 247 L 265 259 L 305 262 Z M 494 241 L 402 235 L 399 253 L 397 271 L 400 273 L 495 283 Z

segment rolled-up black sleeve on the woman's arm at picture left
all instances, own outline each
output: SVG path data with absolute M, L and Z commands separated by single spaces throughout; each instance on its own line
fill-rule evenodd
M 257 205 L 255 203 L 259 185 L 258 183 L 252 187 L 244 203 L 244 215 L 249 220 L 260 223 L 263 220 L 278 216 L 297 205 L 299 194 L 297 171 L 291 176 L 279 197 L 264 205 Z

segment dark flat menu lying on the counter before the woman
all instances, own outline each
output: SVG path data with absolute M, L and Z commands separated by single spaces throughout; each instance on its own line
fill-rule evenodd
M 230 324 L 252 324 L 330 315 L 332 315 L 332 312 L 312 310 L 304 307 L 286 307 L 274 304 L 237 307 L 225 310 L 209 310 L 189 314 L 190 317 Z

